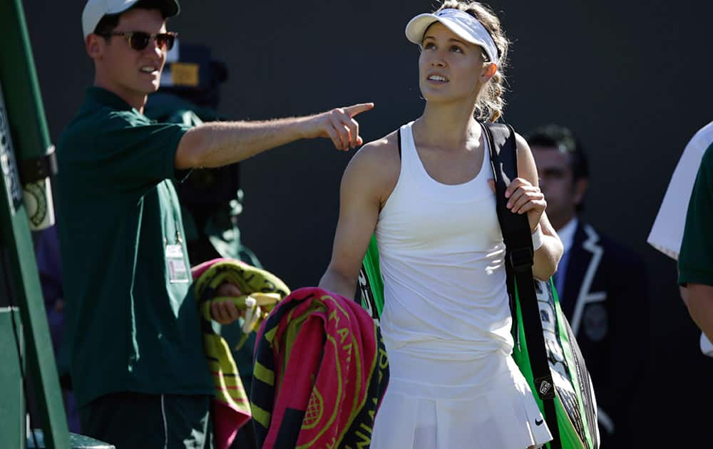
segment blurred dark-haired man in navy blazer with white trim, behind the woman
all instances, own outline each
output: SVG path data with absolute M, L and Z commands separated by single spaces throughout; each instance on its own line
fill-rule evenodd
M 562 309 L 592 376 L 602 449 L 637 447 L 633 425 L 645 373 L 649 298 L 642 258 L 580 219 L 589 168 L 582 146 L 561 125 L 527 135 L 547 215 L 565 252 L 555 274 Z

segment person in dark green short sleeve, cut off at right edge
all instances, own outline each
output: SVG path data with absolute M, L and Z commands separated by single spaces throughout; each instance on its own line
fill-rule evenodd
M 713 341 L 713 145 L 703 155 L 678 258 L 681 296 L 693 321 Z

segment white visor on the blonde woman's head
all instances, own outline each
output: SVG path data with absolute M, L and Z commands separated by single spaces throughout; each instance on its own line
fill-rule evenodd
M 436 14 L 419 14 L 406 25 L 406 38 L 421 45 L 426 29 L 435 22 L 440 22 L 466 42 L 483 48 L 491 62 L 498 64 L 498 47 L 486 28 L 478 19 L 460 9 L 441 9 Z

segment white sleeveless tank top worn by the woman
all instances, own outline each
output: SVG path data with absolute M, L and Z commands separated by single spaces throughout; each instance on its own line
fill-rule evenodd
M 376 223 L 381 331 L 394 349 L 428 358 L 509 354 L 505 245 L 487 182 L 493 177 L 488 147 L 476 177 L 444 185 L 426 172 L 411 125 L 401 126 L 399 180 Z

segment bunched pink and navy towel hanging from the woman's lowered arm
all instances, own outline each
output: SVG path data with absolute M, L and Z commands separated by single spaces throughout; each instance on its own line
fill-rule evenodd
M 368 448 L 389 381 L 378 326 L 359 304 L 293 291 L 260 326 L 250 402 L 260 448 Z

